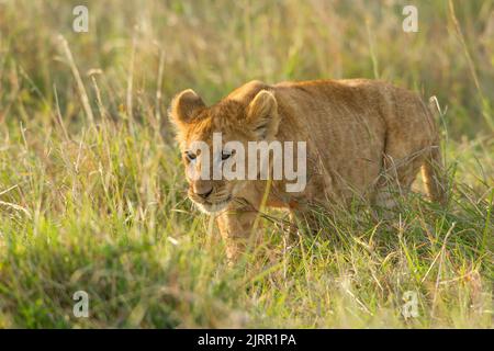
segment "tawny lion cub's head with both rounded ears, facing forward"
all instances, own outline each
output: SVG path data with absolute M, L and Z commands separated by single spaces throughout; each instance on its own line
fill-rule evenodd
M 212 106 L 188 89 L 173 98 L 169 117 L 177 128 L 188 195 L 205 213 L 238 200 L 249 182 L 247 143 L 272 140 L 279 125 L 277 100 L 262 89 L 231 94 Z

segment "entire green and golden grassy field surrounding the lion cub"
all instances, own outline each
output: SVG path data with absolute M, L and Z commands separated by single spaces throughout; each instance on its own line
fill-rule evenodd
M 494 1 L 413 1 L 404 33 L 408 2 L 0 1 L 0 327 L 492 328 Z M 418 181 L 398 219 L 321 213 L 293 246 L 273 212 L 228 267 L 186 199 L 171 97 L 353 77 L 438 97 L 448 206 Z

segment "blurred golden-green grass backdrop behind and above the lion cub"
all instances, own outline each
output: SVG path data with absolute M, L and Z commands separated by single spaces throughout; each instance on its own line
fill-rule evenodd
M 79 4 L 89 10 L 88 33 L 72 31 Z M 406 4 L 418 10 L 417 33 L 402 29 Z M 156 125 L 184 88 L 213 103 L 251 79 L 366 77 L 437 95 L 453 137 L 494 131 L 491 0 L 2 0 L 0 33 L 2 123 L 53 105 L 54 86 L 61 114 L 83 117 L 61 34 L 91 105 L 92 73 L 115 118 L 132 107 L 134 118 Z

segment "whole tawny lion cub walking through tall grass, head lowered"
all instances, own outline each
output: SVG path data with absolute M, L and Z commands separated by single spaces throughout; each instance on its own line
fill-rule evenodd
M 251 81 L 212 106 L 188 89 L 169 117 L 189 197 L 217 217 L 231 259 L 262 205 L 308 219 L 312 205 L 355 196 L 390 208 L 392 193 L 408 192 L 420 168 L 428 195 L 445 201 L 431 112 L 415 93 L 382 81 Z

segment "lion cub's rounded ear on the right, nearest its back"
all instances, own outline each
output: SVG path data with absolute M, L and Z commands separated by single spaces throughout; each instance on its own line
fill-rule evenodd
M 247 106 L 247 123 L 259 137 L 269 139 L 278 133 L 280 117 L 278 103 L 272 92 L 261 90 Z

